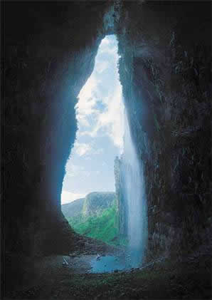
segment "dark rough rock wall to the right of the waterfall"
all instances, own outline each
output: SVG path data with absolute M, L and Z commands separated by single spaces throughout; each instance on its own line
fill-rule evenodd
M 125 1 L 120 11 L 120 79 L 144 162 L 147 259 L 181 256 L 211 239 L 211 3 Z

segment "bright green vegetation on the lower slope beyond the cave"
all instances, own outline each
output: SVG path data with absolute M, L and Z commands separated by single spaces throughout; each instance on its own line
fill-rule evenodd
M 75 229 L 75 232 L 85 234 L 86 237 L 100 239 L 111 245 L 125 244 L 124 241 L 119 239 L 116 205 L 88 218 L 83 217 L 83 214 L 68 218 L 68 222 Z

